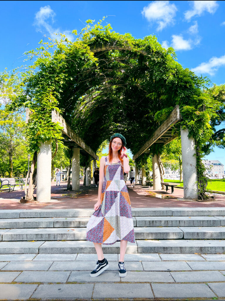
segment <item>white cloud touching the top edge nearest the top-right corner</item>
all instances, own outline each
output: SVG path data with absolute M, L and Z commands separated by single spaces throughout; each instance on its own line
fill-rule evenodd
M 184 17 L 188 21 L 190 21 L 190 19 L 196 15 L 201 16 L 204 11 L 208 11 L 208 13 L 214 14 L 214 12 L 217 10 L 217 7 L 219 6 L 217 4 L 217 1 L 195 0 L 192 1 L 192 3 L 193 3 L 193 8 L 184 13 Z

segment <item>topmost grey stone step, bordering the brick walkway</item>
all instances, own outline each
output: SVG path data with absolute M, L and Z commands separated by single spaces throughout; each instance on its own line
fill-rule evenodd
M 40 217 L 90 217 L 93 209 L 0 210 L 1 219 Z M 133 216 L 225 216 L 225 207 L 132 208 Z

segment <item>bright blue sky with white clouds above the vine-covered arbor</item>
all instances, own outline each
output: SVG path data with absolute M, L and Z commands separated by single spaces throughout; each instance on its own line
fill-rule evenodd
M 38 47 L 43 36 L 65 33 L 69 39 L 87 19 L 106 22 L 135 38 L 156 35 L 163 47 L 176 49 L 184 68 L 225 82 L 225 1 L 1 1 L 0 72 L 23 64 L 24 51 Z M 46 38 L 44 38 L 46 39 Z M 224 150 L 208 159 L 225 165 Z

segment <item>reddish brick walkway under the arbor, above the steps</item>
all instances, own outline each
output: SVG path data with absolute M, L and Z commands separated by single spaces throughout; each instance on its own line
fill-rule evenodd
M 82 185 L 82 183 L 81 183 Z M 57 199 L 51 203 L 28 203 L 22 204 L 19 202 L 20 198 L 24 196 L 24 192 L 11 191 L 0 193 L 0 209 L 70 209 L 70 208 L 93 208 L 97 201 L 97 188 L 92 185 L 91 187 L 80 186 L 80 191 L 65 191 L 66 183 L 62 185 L 51 186 L 51 197 Z M 131 188 L 128 184 L 128 191 L 131 199 L 132 208 L 139 207 L 224 207 L 225 195 L 214 196 L 207 202 L 198 201 L 184 201 L 177 200 L 183 198 L 183 189 L 174 188 L 174 194 L 170 194 L 165 190 L 154 191 L 153 188 L 143 187 L 136 185 Z M 157 196 L 157 197 L 156 197 Z

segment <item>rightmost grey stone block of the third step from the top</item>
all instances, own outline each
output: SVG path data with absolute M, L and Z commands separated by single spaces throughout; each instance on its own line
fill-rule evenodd
M 180 227 L 184 239 L 224 239 L 225 227 Z M 3 234 L 7 235 L 9 232 Z M 2 240 L 3 240 L 2 237 Z

